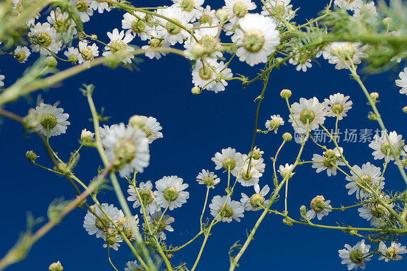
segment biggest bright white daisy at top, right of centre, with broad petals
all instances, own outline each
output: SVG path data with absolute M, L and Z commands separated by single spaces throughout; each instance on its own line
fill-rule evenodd
M 250 66 L 266 63 L 268 56 L 280 44 L 280 33 L 270 17 L 260 14 L 247 14 L 239 20 L 240 28 L 236 28 L 232 42 L 239 48 L 236 55 L 239 60 Z

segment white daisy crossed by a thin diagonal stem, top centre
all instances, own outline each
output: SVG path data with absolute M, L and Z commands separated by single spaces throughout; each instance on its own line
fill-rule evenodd
M 189 18 L 181 8 L 169 7 L 166 9 L 159 9 L 157 13 L 185 26 L 186 28 L 192 27 L 192 24 L 188 23 Z M 188 38 L 189 33 L 175 23 L 167 21 L 161 17 L 157 17 L 157 20 L 161 25 L 165 26 L 157 25 L 156 28 L 158 37 L 164 39 L 164 41 L 169 42 L 171 45 L 175 45 L 177 42 L 182 44 L 184 39 Z

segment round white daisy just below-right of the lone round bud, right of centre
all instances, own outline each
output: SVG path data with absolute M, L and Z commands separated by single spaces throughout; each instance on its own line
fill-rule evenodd
M 309 100 L 300 98 L 300 103 L 294 103 L 291 105 L 291 110 L 294 116 L 290 114 L 288 122 L 292 123 L 295 131 L 307 131 L 308 119 L 309 131 L 315 130 L 319 127 L 319 124 L 324 124 L 325 122 L 324 109 L 325 105 L 319 103 L 318 99 L 315 97 Z M 297 127 L 297 124 L 299 127 Z

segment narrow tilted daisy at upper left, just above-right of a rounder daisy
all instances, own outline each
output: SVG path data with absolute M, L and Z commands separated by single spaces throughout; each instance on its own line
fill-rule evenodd
M 72 37 L 78 33 L 76 31 L 76 25 L 72 19 L 70 19 L 68 12 L 62 12 L 59 7 L 52 10 L 47 17 L 47 21 L 52 24 L 65 43 L 72 40 Z

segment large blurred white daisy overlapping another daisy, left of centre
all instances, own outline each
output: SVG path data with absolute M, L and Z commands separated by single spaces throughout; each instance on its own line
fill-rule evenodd
M 150 162 L 149 140 L 141 130 L 124 123 L 110 127 L 103 140 L 107 159 L 119 170 L 120 176 L 129 176 L 134 169 L 143 172 Z

